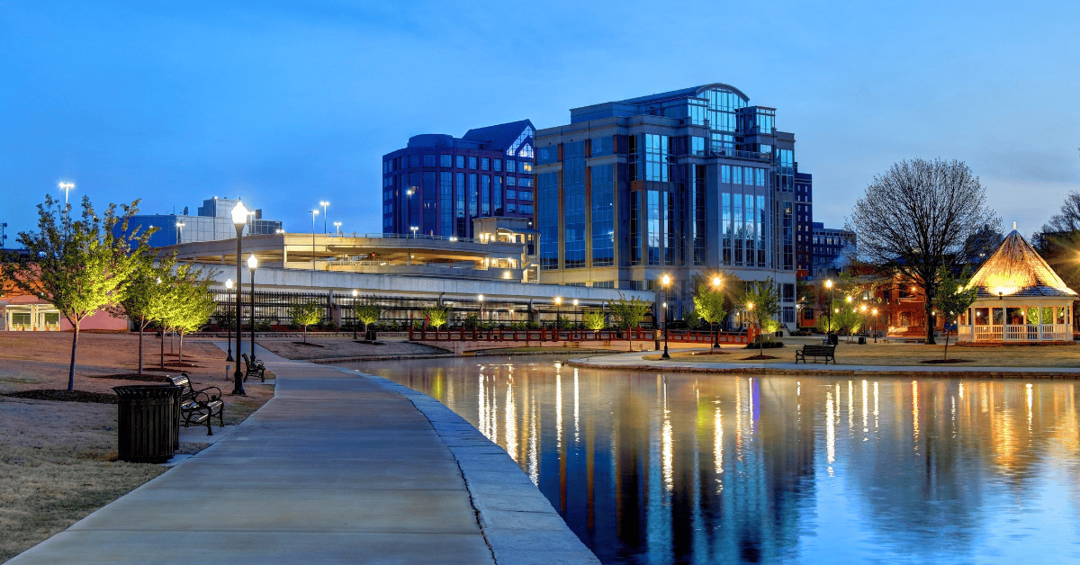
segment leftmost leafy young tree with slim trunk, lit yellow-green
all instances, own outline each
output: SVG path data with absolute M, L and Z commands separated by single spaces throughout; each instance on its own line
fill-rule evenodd
M 71 363 L 68 390 L 75 390 L 75 360 L 82 321 L 123 298 L 129 279 L 145 253 L 150 231 L 129 233 L 127 223 L 138 212 L 138 200 L 109 204 L 98 216 L 82 199 L 82 216 L 71 218 L 71 205 L 46 194 L 38 204 L 38 231 L 23 231 L 18 242 L 29 252 L 4 265 L 5 278 L 22 291 L 49 301 L 71 323 Z M 117 236 L 119 232 L 120 236 Z M 136 252 L 132 253 L 133 244 Z

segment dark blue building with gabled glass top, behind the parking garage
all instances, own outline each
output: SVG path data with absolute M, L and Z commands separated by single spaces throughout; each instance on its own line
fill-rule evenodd
M 475 218 L 531 218 L 534 132 L 521 120 L 415 135 L 382 156 L 382 231 L 473 238 Z

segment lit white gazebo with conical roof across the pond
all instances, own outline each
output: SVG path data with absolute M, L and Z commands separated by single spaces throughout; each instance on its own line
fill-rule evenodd
M 1013 229 L 971 278 L 978 297 L 957 324 L 968 342 L 1072 342 L 1077 293 Z

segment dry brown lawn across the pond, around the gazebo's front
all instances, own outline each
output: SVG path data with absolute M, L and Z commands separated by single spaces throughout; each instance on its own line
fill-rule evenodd
M 765 354 L 777 359 L 747 360 L 757 355 L 758 350 L 742 347 L 723 348 L 727 355 L 694 355 L 689 351 L 675 350 L 670 354 L 679 363 L 793 363 L 795 351 L 806 344 L 820 345 L 820 337 L 785 337 L 781 339 L 784 347 L 766 349 Z M 860 346 L 852 341 L 836 348 L 837 365 L 883 365 L 883 366 L 928 366 L 921 363 L 928 360 L 939 360 L 945 357 L 945 346 L 926 346 L 917 344 L 886 344 L 880 338 L 875 344 L 869 340 Z M 645 359 L 657 361 L 660 355 L 646 355 Z M 1080 346 L 957 346 L 949 344 L 948 359 L 966 360 L 962 363 L 944 366 L 997 366 L 997 367 L 1076 367 L 1080 366 Z M 801 364 L 801 363 L 800 363 Z M 832 363 L 829 363 L 832 366 Z M 933 365 L 930 365 L 933 366 Z

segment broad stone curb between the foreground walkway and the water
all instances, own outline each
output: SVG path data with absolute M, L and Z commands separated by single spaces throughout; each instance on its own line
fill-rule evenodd
M 499 565 L 599 565 L 507 452 L 437 400 L 390 379 L 361 375 L 408 399 L 431 422 L 461 469 L 476 520 Z

